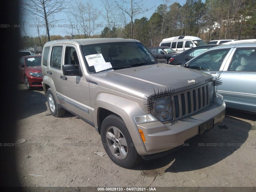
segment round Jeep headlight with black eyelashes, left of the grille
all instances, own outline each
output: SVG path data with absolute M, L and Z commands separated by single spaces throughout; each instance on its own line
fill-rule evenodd
M 172 98 L 165 96 L 163 98 L 152 99 L 152 114 L 161 122 L 172 120 Z

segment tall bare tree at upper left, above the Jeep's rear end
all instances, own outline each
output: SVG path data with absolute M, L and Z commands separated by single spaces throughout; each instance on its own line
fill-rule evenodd
M 50 28 L 58 20 L 54 19 L 54 15 L 64 10 L 66 0 L 24 0 L 22 9 L 32 16 L 37 16 L 38 21 L 45 26 L 48 41 L 50 41 Z

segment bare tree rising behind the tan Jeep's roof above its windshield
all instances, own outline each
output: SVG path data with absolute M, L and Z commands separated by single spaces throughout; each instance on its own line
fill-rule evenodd
M 146 8 L 144 6 L 143 0 L 130 0 L 130 2 L 126 0 L 122 1 L 115 1 L 118 8 L 124 12 L 130 18 L 131 24 L 131 37 L 133 38 L 133 31 L 134 31 L 134 19 L 139 14 L 147 12 L 152 8 Z

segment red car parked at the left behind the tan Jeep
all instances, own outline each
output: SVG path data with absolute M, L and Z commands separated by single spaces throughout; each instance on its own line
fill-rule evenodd
M 42 55 L 29 55 L 20 58 L 19 80 L 26 84 L 28 90 L 42 87 Z

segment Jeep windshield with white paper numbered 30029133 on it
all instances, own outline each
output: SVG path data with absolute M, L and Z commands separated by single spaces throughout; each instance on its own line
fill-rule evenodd
M 90 72 L 157 63 L 152 54 L 137 42 L 114 42 L 81 47 Z

